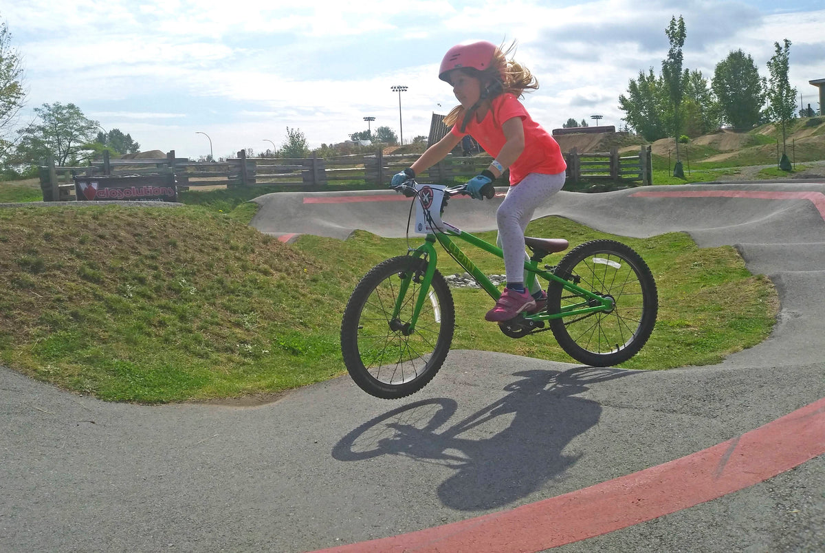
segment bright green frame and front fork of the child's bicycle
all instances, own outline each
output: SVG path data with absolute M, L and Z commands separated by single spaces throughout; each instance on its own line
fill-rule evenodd
M 413 317 L 409 321 L 408 328 L 404 331 L 405 333 L 413 333 L 413 330 L 415 329 L 415 325 L 418 320 L 418 315 L 421 313 L 422 306 L 424 305 L 424 302 L 427 300 L 428 295 L 431 293 L 430 285 L 432 281 L 432 276 L 436 272 L 436 265 L 438 262 L 438 253 L 436 252 L 435 246 L 436 242 L 441 243 L 441 245 L 447 250 L 447 252 L 449 252 L 457 262 L 459 262 L 461 267 L 464 267 L 464 269 L 467 272 L 469 272 L 469 274 L 473 276 L 473 278 L 477 282 L 479 282 L 479 285 L 493 298 L 493 300 L 498 300 L 499 296 L 502 294 L 500 291 L 498 291 L 498 288 L 495 285 L 493 285 L 490 279 L 488 279 L 487 275 L 481 272 L 479 267 L 475 266 L 474 262 L 470 261 L 467 255 L 450 237 L 464 240 L 465 242 L 470 243 L 478 248 L 481 248 L 488 253 L 492 253 L 498 258 L 504 258 L 502 248 L 493 246 L 493 244 L 485 242 L 484 240 L 479 239 L 479 237 L 475 236 L 474 234 L 464 232 L 461 229 L 455 229 L 455 231 L 450 230 L 447 232 L 438 232 L 435 234 L 427 234 L 425 242 L 422 243 L 422 245 L 420 245 L 418 248 L 411 249 L 409 252 L 410 255 L 412 255 L 413 257 L 423 258 L 427 261 L 427 271 L 424 273 L 424 278 L 421 283 L 421 291 L 418 293 L 418 297 L 416 299 L 416 305 L 413 309 Z M 538 267 L 538 263 L 535 261 L 526 261 L 524 263 L 524 268 L 526 271 L 527 281 L 530 281 L 532 279 L 532 276 L 534 275 L 540 276 L 545 281 L 558 282 L 564 290 L 571 291 L 573 292 L 573 294 L 582 297 L 581 302 L 572 305 L 565 305 L 562 307 L 559 313 L 537 313 L 532 315 L 525 314 L 524 316 L 526 319 L 544 321 L 551 319 L 561 319 L 563 317 L 573 317 L 577 315 L 592 314 L 599 311 L 607 312 L 613 309 L 613 300 L 611 300 L 610 298 L 603 297 L 601 295 L 593 293 L 592 291 L 585 290 L 584 288 L 577 286 L 573 282 L 567 281 L 562 277 L 555 275 L 553 272 L 540 269 Z M 393 317 L 395 319 L 398 319 L 398 315 L 401 312 L 403 300 L 404 297 L 407 295 L 409 283 L 410 281 L 412 281 L 412 279 L 413 275 L 408 275 L 402 281 L 393 312 Z

